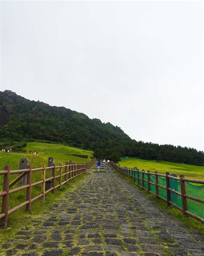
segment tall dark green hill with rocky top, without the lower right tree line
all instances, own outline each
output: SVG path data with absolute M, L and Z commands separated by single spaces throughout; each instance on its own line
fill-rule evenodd
M 53 141 L 82 149 L 98 149 L 96 154 L 100 157 L 104 152 L 99 149 L 108 146 L 111 150 L 106 153 L 114 159 L 114 154 L 117 157 L 128 154 L 132 143 L 121 128 L 110 123 L 104 124 L 64 107 L 30 101 L 7 90 L 0 92 L 0 120 L 0 146 L 9 146 L 12 141 L 13 150 L 25 146 L 22 142 Z M 16 141 L 19 143 L 14 143 Z

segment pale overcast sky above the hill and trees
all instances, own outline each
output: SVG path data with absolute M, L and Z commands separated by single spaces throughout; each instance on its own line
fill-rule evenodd
M 1 1 L 1 84 L 203 150 L 202 1 Z

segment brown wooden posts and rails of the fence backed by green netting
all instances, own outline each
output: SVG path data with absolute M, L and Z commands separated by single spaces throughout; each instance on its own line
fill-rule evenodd
M 111 164 L 111 166 L 114 167 L 115 170 L 117 170 L 118 173 L 121 173 L 124 177 L 132 179 L 134 183 L 136 183 L 136 180 L 137 180 L 137 185 L 139 187 L 141 187 L 142 189 L 145 189 L 149 193 L 155 195 L 156 198 L 160 198 L 160 199 L 164 200 L 165 202 L 167 202 L 167 206 L 173 205 L 174 207 L 176 207 L 177 209 L 182 211 L 183 215 L 190 215 L 193 218 L 204 222 L 204 218 L 201 218 L 188 210 L 187 198 L 189 198 L 193 201 L 196 201 L 196 202 L 200 202 L 202 204 L 204 204 L 204 199 L 186 194 L 186 189 L 185 189 L 185 182 L 204 184 L 204 180 L 185 179 L 184 175 L 180 175 L 180 177 L 178 178 L 175 176 L 170 176 L 169 173 L 166 173 L 166 175 L 159 174 L 157 171 L 155 171 L 155 173 L 151 173 L 150 171 L 145 172 L 145 170 L 140 171 L 137 168 L 129 169 L 127 167 L 121 167 L 120 165 L 116 165 L 113 162 L 110 162 L 110 164 Z M 140 177 L 141 174 L 142 174 L 142 177 Z M 147 179 L 145 179 L 145 175 L 147 175 Z M 155 182 L 151 182 L 151 179 L 150 179 L 151 175 L 155 176 Z M 166 178 L 166 186 L 162 186 L 161 184 L 159 184 L 158 177 Z M 170 180 L 179 181 L 179 183 L 180 183 L 179 190 L 181 192 L 176 191 L 176 189 L 170 188 Z M 145 183 L 147 183 L 147 186 L 146 186 L 147 188 L 145 188 Z M 151 191 L 150 186 L 155 186 L 155 192 Z M 159 188 L 166 190 L 167 198 L 164 198 L 163 196 L 159 195 Z M 179 195 L 182 198 L 182 207 L 177 205 L 175 202 L 171 201 L 171 192 L 175 193 L 176 195 Z

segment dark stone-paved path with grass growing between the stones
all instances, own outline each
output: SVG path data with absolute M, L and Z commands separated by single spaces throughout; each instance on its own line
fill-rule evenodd
M 161 211 L 109 166 L 92 173 L 22 229 L 0 255 L 204 255 L 204 236 Z

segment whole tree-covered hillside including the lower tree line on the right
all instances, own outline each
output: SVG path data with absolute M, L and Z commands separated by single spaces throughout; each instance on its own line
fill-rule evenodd
M 0 92 L 0 147 L 25 147 L 25 142 L 52 141 L 94 151 L 117 161 L 122 156 L 204 165 L 204 154 L 188 147 L 132 140 L 121 128 L 87 115 Z

